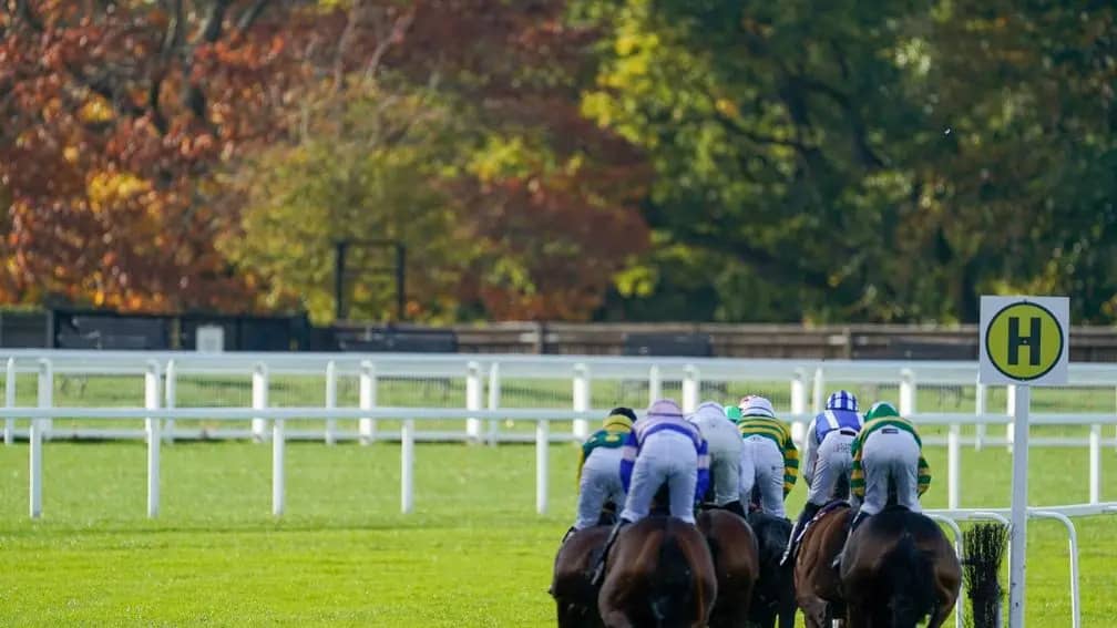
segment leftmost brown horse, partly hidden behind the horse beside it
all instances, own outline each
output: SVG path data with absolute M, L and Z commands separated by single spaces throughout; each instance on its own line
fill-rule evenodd
M 558 548 L 548 592 L 555 599 L 558 628 L 600 628 L 598 588 L 590 582 L 590 571 L 604 549 L 610 525 L 586 527 Z

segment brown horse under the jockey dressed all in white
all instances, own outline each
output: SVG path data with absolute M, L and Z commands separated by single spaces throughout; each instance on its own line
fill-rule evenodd
M 745 520 L 720 508 L 699 513 L 697 525 L 706 536 L 717 577 L 717 599 L 709 628 L 745 626 L 753 587 L 760 575 L 760 552 L 753 530 Z

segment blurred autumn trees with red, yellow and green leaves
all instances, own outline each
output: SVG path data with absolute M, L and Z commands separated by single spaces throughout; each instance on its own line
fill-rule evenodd
M 421 322 L 1117 318 L 1109 2 L 0 9 L 0 303 L 326 322 L 384 238 Z

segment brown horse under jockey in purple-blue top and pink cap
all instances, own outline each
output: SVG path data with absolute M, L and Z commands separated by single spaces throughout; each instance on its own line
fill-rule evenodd
M 706 626 L 717 597 L 714 560 L 694 525 L 649 516 L 617 536 L 598 610 L 609 628 Z

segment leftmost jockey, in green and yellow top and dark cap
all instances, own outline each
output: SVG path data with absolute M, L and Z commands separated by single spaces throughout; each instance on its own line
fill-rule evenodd
M 596 525 L 605 502 L 624 503 L 621 484 L 621 446 L 632 431 L 636 412 L 631 408 L 614 408 L 582 444 L 577 460 L 577 518 L 566 531 L 563 542 L 571 534 Z

